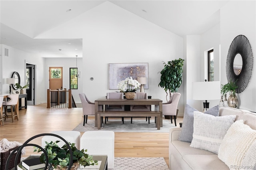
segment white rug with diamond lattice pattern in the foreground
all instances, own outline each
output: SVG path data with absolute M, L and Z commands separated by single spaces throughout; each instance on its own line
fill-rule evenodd
M 114 170 L 169 170 L 163 157 L 116 157 Z

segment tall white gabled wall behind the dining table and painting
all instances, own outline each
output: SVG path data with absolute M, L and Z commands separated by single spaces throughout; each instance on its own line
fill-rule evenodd
M 91 101 L 106 96 L 108 63 L 148 63 L 148 95 L 166 101 L 158 87 L 162 61 L 183 57 L 183 38 L 110 2 L 81 14 L 37 38 L 83 39 L 83 92 Z M 90 77 L 94 77 L 91 81 Z M 180 87 L 183 94 L 183 85 Z M 183 113 L 184 102 L 178 109 Z

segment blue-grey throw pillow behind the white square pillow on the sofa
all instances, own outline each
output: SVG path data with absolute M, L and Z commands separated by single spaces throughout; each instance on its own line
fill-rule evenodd
M 197 111 L 190 105 L 186 104 L 183 115 L 182 129 L 180 131 L 179 140 L 184 142 L 191 142 L 193 139 L 193 124 L 194 124 L 194 111 Z M 205 114 L 218 116 L 219 115 L 219 105 L 210 108 Z

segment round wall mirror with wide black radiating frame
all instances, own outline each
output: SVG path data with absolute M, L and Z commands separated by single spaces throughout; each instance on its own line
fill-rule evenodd
M 236 93 L 246 89 L 252 76 L 252 68 L 253 54 L 250 42 L 246 36 L 236 36 L 228 49 L 226 61 L 227 79 L 228 82 L 236 82 Z

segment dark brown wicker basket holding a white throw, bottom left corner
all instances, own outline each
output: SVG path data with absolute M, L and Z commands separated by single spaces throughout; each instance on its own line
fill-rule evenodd
M 18 146 L 17 146 L 17 147 L 18 147 Z M 5 168 L 6 168 L 6 161 L 7 161 L 8 157 L 9 157 L 10 153 L 12 152 L 12 150 L 16 149 L 17 147 L 12 148 L 12 149 L 9 149 L 9 150 L 6 151 L 6 152 L 1 152 L 1 153 L 0 153 L 0 157 L 1 157 L 1 159 L 0 159 L 0 170 L 5 170 Z M 12 157 L 10 158 L 10 160 L 9 160 L 9 165 L 8 165 L 8 170 L 14 168 L 14 162 L 15 162 L 15 157 L 16 157 L 16 155 L 17 155 L 17 152 L 18 152 L 18 151 L 16 151 L 16 152 L 12 155 Z M 21 158 L 21 153 L 20 153 L 20 155 L 18 156 L 18 163 L 20 163 L 20 158 Z M 17 164 L 18 164 L 18 163 L 17 163 Z

